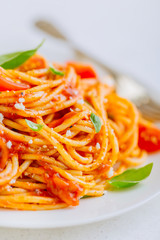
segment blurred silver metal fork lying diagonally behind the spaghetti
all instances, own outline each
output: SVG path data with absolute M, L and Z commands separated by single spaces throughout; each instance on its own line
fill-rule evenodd
M 53 23 L 39 20 L 35 22 L 35 25 L 52 37 L 65 41 L 74 50 L 77 60 L 89 61 L 107 73 L 114 80 L 117 93 L 134 102 L 145 118 L 151 121 L 160 121 L 160 105 L 150 98 L 146 88 L 142 84 L 134 78 L 106 66 L 104 63 L 78 49 Z

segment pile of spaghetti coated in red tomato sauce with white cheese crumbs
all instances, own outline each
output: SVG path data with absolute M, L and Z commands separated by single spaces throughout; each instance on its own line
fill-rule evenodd
M 53 67 L 34 55 L 17 69 L 0 68 L 0 207 L 76 206 L 145 161 L 138 139 L 146 122 L 136 107 L 90 66 Z

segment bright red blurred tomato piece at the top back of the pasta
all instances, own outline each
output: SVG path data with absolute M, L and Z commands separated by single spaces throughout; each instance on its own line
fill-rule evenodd
M 97 78 L 97 73 L 93 67 L 88 64 L 79 62 L 67 62 L 67 66 L 73 67 L 81 78 Z

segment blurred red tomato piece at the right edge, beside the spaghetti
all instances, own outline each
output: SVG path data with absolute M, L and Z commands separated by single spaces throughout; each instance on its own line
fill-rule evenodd
M 139 124 L 138 145 L 149 153 L 160 151 L 160 129 Z

